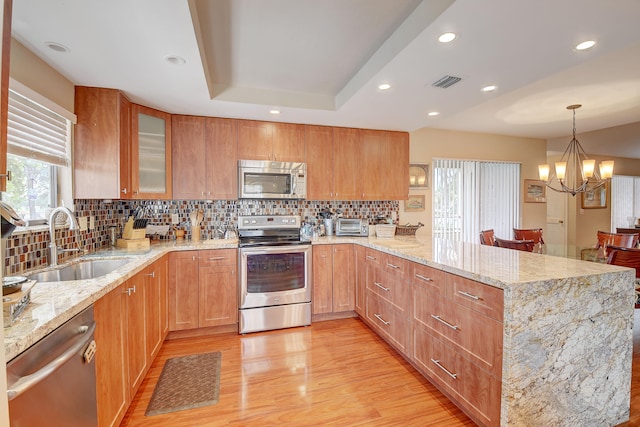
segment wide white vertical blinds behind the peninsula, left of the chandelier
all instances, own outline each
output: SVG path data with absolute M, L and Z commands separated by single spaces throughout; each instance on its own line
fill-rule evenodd
M 479 242 L 481 230 L 512 238 L 520 219 L 518 163 L 435 159 L 433 235 Z

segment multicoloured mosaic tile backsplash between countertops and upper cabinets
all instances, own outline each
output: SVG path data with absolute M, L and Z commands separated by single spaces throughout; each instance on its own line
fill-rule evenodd
M 117 237 L 127 218 L 137 208 L 143 208 L 149 225 L 170 226 L 167 235 L 149 236 L 152 239 L 172 240 L 175 238 L 171 228 L 171 217 L 178 215 L 179 226 L 187 230 L 186 238 L 191 237 L 189 214 L 197 209 L 204 212 L 200 226 L 201 239 L 213 239 L 217 230 L 223 233 L 231 226 L 235 227 L 239 215 L 300 215 L 303 220 L 316 221 L 319 212 L 341 212 L 346 218 L 367 219 L 374 223 L 376 217 L 396 218 L 399 202 L 391 201 L 312 201 L 312 200 L 75 200 L 76 217 L 93 217 L 94 228 L 87 231 L 70 231 L 67 228 L 56 231 L 58 248 L 73 249 L 77 245 L 86 252 L 94 252 L 111 245 L 111 229 L 115 228 Z M 7 239 L 5 250 L 5 276 L 21 274 L 29 270 L 45 267 L 49 264 L 48 227 L 35 230 L 17 231 Z M 63 263 L 77 252 L 61 252 L 58 262 Z

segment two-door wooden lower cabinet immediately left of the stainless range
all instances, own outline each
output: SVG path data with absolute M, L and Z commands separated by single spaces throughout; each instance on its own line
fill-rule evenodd
M 237 251 L 211 249 L 169 254 L 169 329 L 238 322 Z

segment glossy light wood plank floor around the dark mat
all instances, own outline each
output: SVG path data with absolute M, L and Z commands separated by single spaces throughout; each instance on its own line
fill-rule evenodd
M 640 310 L 631 420 L 640 426 Z M 222 352 L 220 400 L 145 417 L 165 361 Z M 167 341 L 121 426 L 471 426 L 474 423 L 358 319 Z

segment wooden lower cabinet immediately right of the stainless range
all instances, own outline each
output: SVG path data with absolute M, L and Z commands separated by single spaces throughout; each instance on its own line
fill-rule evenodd
M 313 314 L 355 308 L 355 257 L 352 244 L 313 246 Z

